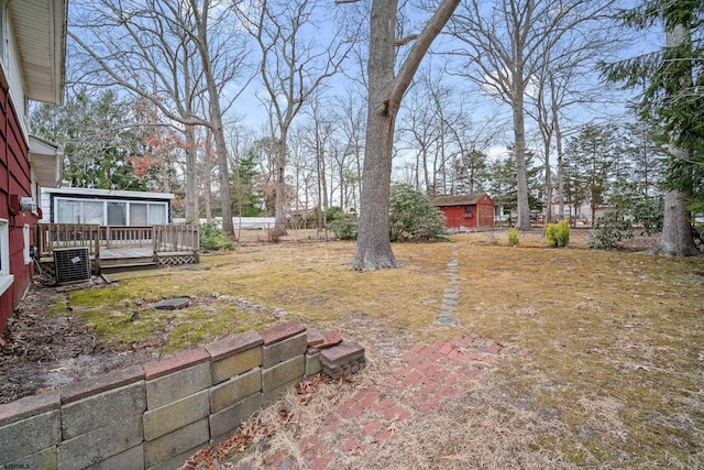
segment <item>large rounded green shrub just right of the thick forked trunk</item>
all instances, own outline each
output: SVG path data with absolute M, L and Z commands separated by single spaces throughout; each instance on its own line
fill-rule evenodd
M 407 184 L 392 186 L 388 228 L 391 241 L 440 240 L 448 233 L 440 209 Z

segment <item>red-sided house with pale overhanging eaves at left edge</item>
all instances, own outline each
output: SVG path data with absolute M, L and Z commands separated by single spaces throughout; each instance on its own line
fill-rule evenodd
M 30 138 L 29 101 L 62 103 L 66 0 L 0 0 L 0 331 L 30 286 L 40 186 L 61 155 Z

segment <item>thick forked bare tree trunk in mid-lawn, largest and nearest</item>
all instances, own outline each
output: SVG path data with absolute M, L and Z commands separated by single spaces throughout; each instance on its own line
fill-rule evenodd
M 373 0 L 367 64 L 366 144 L 359 237 L 350 267 L 374 271 L 397 267 L 388 237 L 388 204 L 396 116 L 402 98 L 430 44 L 460 0 L 443 0 L 417 36 L 395 76 L 396 0 Z

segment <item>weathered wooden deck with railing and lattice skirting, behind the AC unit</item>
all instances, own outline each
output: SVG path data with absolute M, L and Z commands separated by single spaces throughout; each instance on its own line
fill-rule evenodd
M 54 275 L 54 250 L 88 248 L 95 274 L 198 264 L 197 226 L 101 227 L 69 223 L 37 226 L 42 271 Z

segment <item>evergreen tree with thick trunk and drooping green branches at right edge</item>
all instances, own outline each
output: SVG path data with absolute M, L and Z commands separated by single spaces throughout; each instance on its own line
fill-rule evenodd
M 667 189 L 662 236 L 651 252 L 700 255 L 690 210 L 704 206 L 704 3 L 701 0 L 646 0 L 626 12 L 638 30 L 661 22 L 666 46 L 652 54 L 604 66 L 606 77 L 627 88 L 644 86 L 638 111 L 667 145 Z

